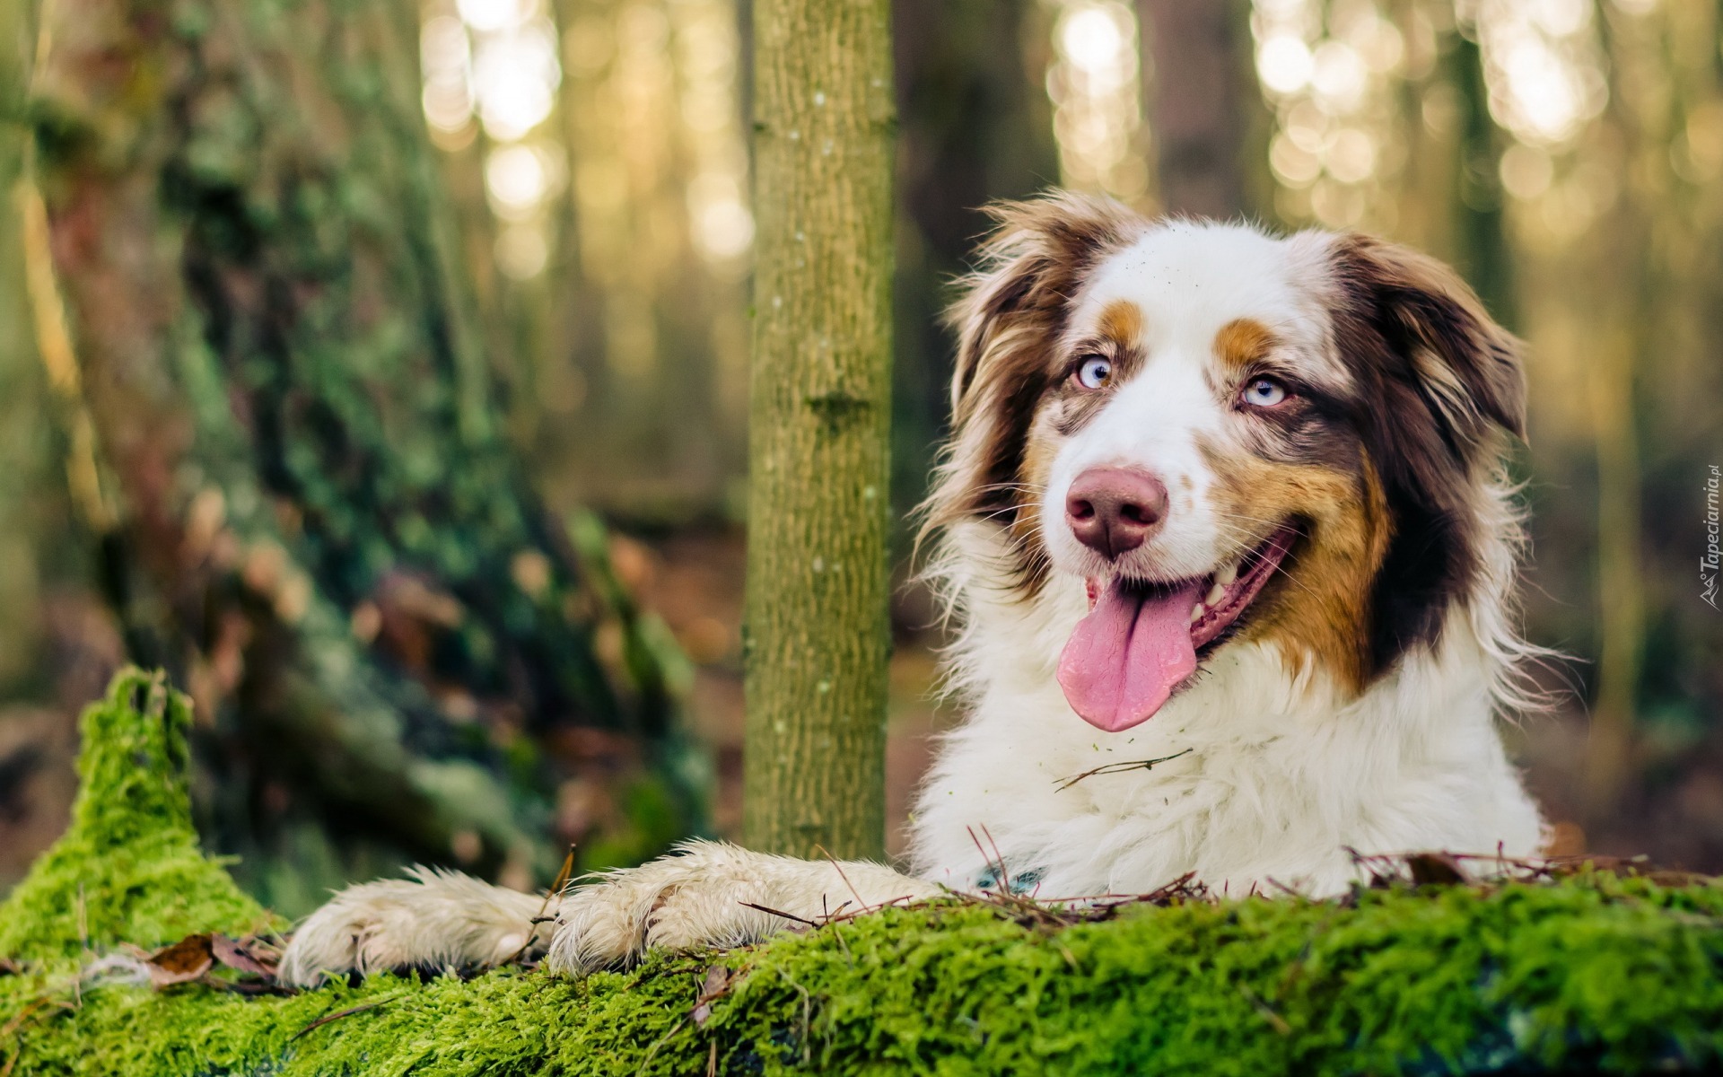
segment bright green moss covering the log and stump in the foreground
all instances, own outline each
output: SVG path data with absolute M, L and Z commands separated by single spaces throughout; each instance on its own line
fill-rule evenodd
M 1723 1070 L 1723 889 L 1604 872 L 1132 906 L 1072 925 L 946 903 L 586 981 L 501 970 L 295 996 L 79 981 L 117 943 L 260 920 L 196 853 L 183 786 L 136 755 L 179 751 L 183 713 L 159 691 L 131 674 L 91 712 L 105 717 L 86 715 L 78 822 L 0 906 L 0 953 L 31 962 L 0 977 L 0 1072 Z M 122 744 L 112 760 L 107 738 Z M 121 819 L 134 810 L 148 819 Z M 124 850 L 90 827 L 124 834 Z M 84 927 L 60 905 L 79 879 Z

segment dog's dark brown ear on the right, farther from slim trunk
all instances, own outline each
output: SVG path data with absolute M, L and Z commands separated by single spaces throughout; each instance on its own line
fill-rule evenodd
M 1361 234 L 1337 236 L 1330 258 L 1349 321 L 1365 329 L 1340 345 L 1354 362 L 1380 364 L 1389 398 L 1394 389 L 1416 393 L 1459 462 L 1494 445 L 1497 427 L 1525 438 L 1520 341 L 1452 269 Z M 1361 357 L 1359 348 L 1377 355 Z

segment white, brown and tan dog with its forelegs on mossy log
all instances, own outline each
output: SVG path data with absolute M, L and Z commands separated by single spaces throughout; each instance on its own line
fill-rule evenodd
M 314 913 L 283 979 L 520 953 L 584 974 L 791 925 L 765 908 L 1187 874 L 1327 896 L 1359 853 L 1539 851 L 1497 731 L 1535 653 L 1502 465 L 1518 341 L 1449 269 L 1361 234 L 1073 193 L 992 214 L 925 507 L 967 719 L 911 874 L 712 841 L 551 898 L 419 868 Z

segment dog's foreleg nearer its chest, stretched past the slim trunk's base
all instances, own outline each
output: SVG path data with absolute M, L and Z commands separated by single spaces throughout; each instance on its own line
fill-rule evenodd
M 612 872 L 563 894 L 546 958 L 584 975 L 648 948 L 741 946 L 829 917 L 932 898 L 941 887 L 867 862 L 794 860 L 718 841 Z

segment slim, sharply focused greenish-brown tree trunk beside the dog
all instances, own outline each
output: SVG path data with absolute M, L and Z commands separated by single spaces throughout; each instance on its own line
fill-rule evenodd
M 744 829 L 884 851 L 893 78 L 887 0 L 756 0 Z

